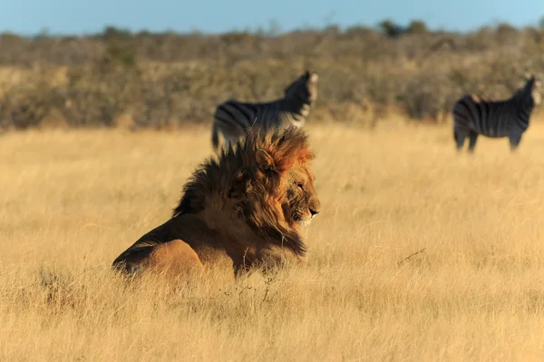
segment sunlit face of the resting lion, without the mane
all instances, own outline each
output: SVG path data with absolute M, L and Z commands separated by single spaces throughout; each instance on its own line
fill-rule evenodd
M 316 177 L 306 164 L 296 163 L 284 176 L 286 199 L 282 205 L 289 224 L 306 226 L 321 211 L 314 181 Z

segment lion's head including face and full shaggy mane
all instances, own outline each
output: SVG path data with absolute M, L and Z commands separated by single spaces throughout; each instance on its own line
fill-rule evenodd
M 219 159 L 200 165 L 173 216 L 214 210 L 243 218 L 267 242 L 302 256 L 300 228 L 321 209 L 310 169 L 313 157 L 301 129 L 250 129 Z

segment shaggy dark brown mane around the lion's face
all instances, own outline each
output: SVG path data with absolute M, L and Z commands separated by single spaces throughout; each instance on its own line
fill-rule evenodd
M 259 170 L 256 159 L 259 149 L 273 158 L 274 170 L 267 173 Z M 296 162 L 307 163 L 312 158 L 306 133 L 301 129 L 250 129 L 247 137 L 223 148 L 219 159 L 209 158 L 197 167 L 183 187 L 172 216 L 204 210 L 236 213 L 268 243 L 282 244 L 304 255 L 306 246 L 302 237 L 283 220 L 281 207 L 271 204 L 271 200 L 281 201 L 285 196 L 280 187 L 281 177 Z

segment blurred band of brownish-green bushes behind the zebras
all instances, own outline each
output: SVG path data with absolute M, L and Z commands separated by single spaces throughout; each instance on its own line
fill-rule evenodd
M 499 24 L 458 34 L 432 32 L 421 21 L 380 27 L 220 35 L 108 27 L 90 36 L 34 38 L 4 33 L 0 127 L 37 126 L 53 110 L 73 127 L 112 127 L 123 113 L 138 128 L 208 123 L 219 102 L 277 99 L 306 70 L 319 73 L 310 121 L 323 119 L 316 112 L 325 111 L 338 121 L 374 124 L 390 110 L 440 121 L 465 93 L 506 98 L 523 73 L 544 70 L 544 29 Z M 54 75 L 59 70 L 65 72 L 61 80 Z

